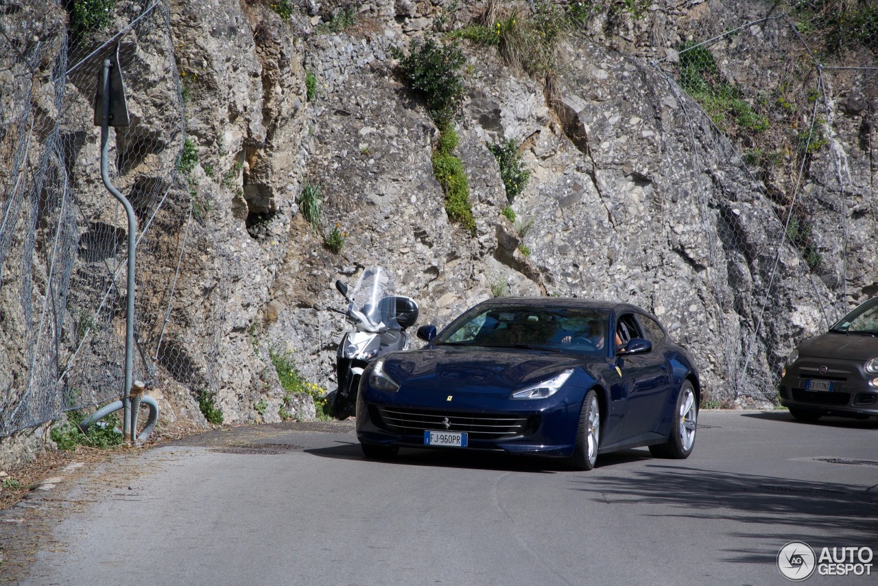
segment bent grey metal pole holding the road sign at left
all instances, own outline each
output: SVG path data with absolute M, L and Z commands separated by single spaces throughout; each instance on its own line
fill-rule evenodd
M 117 65 L 118 67 L 118 65 Z M 134 249 L 137 242 L 137 218 L 134 216 L 134 208 L 125 196 L 116 189 L 110 181 L 107 170 L 110 158 L 110 68 L 112 62 L 104 59 L 101 70 L 102 103 L 101 103 L 101 178 L 104 179 L 104 187 L 112 196 L 119 200 L 128 214 L 128 307 L 125 315 L 125 390 L 122 393 L 122 405 L 125 408 L 125 423 L 123 433 L 126 439 L 135 441 L 137 431 L 132 424 L 131 414 L 131 384 L 134 370 Z

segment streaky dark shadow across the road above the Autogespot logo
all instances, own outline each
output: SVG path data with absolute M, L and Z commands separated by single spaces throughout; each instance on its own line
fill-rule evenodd
M 604 470 L 612 473 L 611 470 Z M 793 540 L 826 546 L 874 544 L 878 485 L 798 481 L 757 474 L 727 474 L 670 464 L 631 468 L 623 477 L 592 474 L 572 479 L 596 503 L 649 506 L 646 517 L 688 517 L 732 525 L 731 536 L 752 539 L 752 548 L 727 552 L 723 561 L 766 562 Z M 656 508 L 658 505 L 659 508 Z M 738 531 L 744 524 L 752 531 Z M 826 543 L 827 536 L 838 543 Z

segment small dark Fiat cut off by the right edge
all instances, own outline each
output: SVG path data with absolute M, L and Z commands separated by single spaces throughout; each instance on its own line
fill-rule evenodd
M 878 297 L 790 352 L 779 392 L 802 421 L 878 416 Z

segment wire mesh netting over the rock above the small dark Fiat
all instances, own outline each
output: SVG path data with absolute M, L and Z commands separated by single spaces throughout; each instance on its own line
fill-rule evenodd
M 878 212 L 875 113 L 866 107 L 878 87 L 878 9 L 869 4 L 798 3 L 789 14 L 685 42 L 655 62 L 692 130 L 733 397 L 774 399 L 784 352 L 809 325 L 828 328 L 868 285 L 857 276 L 869 271 L 852 262 L 858 251 L 874 251 L 873 238 L 851 219 L 874 221 Z M 768 238 L 752 237 L 736 217 L 741 210 L 716 199 L 706 160 L 743 171 L 747 203 L 774 217 Z M 738 263 L 752 272 L 752 292 L 737 286 Z M 742 307 L 742 293 L 751 293 L 751 307 Z M 777 316 L 793 322 L 788 332 Z M 776 344 L 785 336 L 795 339 Z

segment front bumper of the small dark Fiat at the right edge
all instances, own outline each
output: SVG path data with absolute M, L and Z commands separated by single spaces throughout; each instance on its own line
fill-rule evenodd
M 778 394 L 784 407 L 864 419 L 878 416 L 878 389 L 868 385 L 873 378 L 859 361 L 803 357 L 788 366 Z M 809 380 L 831 383 L 831 390 L 809 390 Z

